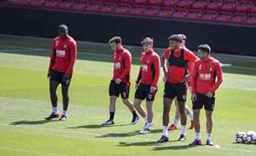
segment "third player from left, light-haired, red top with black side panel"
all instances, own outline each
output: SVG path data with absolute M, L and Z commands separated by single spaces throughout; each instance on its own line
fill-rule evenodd
M 136 80 L 136 91 L 134 99 L 134 107 L 144 118 L 144 128 L 139 132 L 140 134 L 147 134 L 151 132 L 153 126 L 153 102 L 155 93 L 157 91 L 157 83 L 160 76 L 160 57 L 153 49 L 153 39 L 145 37 L 141 42 L 144 52 L 140 59 L 140 71 Z M 146 99 L 146 110 L 141 106 L 142 101 Z

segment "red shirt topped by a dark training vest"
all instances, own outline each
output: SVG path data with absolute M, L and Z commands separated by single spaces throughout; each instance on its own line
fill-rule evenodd
M 174 84 L 180 83 L 183 78 L 189 74 L 189 67 L 192 67 L 193 62 L 198 59 L 198 57 L 187 48 L 183 48 L 182 53 L 181 48 L 172 51 L 172 49 L 168 47 L 163 56 L 168 59 L 167 80 Z

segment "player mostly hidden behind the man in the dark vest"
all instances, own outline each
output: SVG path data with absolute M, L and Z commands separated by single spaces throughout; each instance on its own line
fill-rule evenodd
M 182 47 L 184 49 L 186 49 L 187 51 L 190 51 L 187 47 L 186 47 L 186 40 L 187 40 L 187 36 L 184 34 L 179 34 L 182 37 Z M 166 50 L 170 50 L 170 47 L 168 47 Z M 165 60 L 165 58 L 163 59 L 164 56 L 162 56 L 162 60 Z M 189 73 L 191 73 L 193 67 L 193 62 L 188 63 L 188 70 Z M 165 81 L 165 80 L 164 80 Z M 189 82 L 189 81 L 187 81 Z M 187 85 L 189 86 L 189 83 L 187 83 Z M 176 125 L 177 122 L 179 120 L 179 110 L 178 110 L 178 106 L 177 106 L 177 99 L 175 99 L 175 104 L 176 104 L 176 116 L 175 116 L 175 120 L 172 122 L 172 124 L 169 126 L 169 130 L 176 130 Z M 189 117 L 190 119 L 190 127 L 189 130 L 194 129 L 194 118 L 193 118 L 193 112 L 188 108 L 187 105 L 185 105 L 185 110 L 186 110 L 186 115 Z

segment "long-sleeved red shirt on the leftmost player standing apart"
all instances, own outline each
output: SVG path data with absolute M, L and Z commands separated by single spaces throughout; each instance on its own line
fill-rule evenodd
M 51 57 L 48 69 L 72 74 L 76 58 L 76 41 L 71 36 L 67 36 L 65 39 L 58 36 L 53 39 L 51 45 Z

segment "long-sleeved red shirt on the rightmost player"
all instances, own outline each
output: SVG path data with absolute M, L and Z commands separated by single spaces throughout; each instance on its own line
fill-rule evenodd
M 216 81 L 216 77 L 218 80 Z M 215 92 L 223 81 L 223 73 L 217 59 L 197 60 L 191 75 L 192 93 L 206 94 Z

